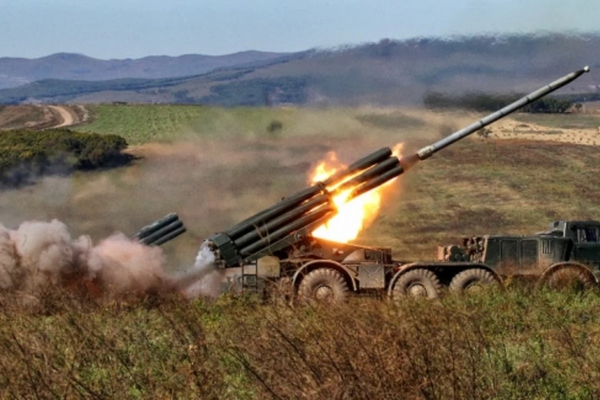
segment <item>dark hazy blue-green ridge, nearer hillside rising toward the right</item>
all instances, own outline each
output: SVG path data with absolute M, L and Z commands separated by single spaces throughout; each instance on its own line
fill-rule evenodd
M 0 90 L 0 103 L 421 104 L 431 91 L 526 92 L 583 65 L 592 73 L 562 93 L 598 97 L 599 53 L 598 35 L 382 40 L 176 79 L 42 80 Z

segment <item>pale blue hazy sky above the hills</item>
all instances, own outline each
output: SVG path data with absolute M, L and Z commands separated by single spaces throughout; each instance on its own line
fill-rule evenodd
M 539 30 L 600 30 L 600 0 L 0 0 L 0 56 L 293 52 Z

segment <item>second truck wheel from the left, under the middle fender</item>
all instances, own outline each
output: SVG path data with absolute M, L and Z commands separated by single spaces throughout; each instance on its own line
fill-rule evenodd
M 442 284 L 437 275 L 428 269 L 417 268 L 400 275 L 392 288 L 392 298 L 423 297 L 437 299 Z

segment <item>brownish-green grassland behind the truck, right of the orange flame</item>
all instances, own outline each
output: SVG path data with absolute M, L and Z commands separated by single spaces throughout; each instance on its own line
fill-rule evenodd
M 593 146 L 467 141 L 416 166 L 362 243 L 431 258 L 461 236 L 527 234 L 555 219 L 598 219 L 600 157 Z M 446 243 L 450 244 L 450 243 Z

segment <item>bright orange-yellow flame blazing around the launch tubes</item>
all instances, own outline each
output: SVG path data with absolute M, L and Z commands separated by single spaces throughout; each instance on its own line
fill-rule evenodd
M 394 146 L 392 153 L 397 157 L 401 157 L 400 152 L 402 151 L 402 148 L 403 144 L 398 143 L 398 145 Z M 329 178 L 329 176 L 345 167 L 346 166 L 338 160 L 335 152 L 329 152 L 326 160 L 319 163 L 311 173 L 310 183 L 314 185 L 317 182 L 324 181 Z M 347 179 L 350 178 L 352 178 L 352 176 Z M 370 225 L 377 217 L 381 206 L 383 190 L 394 181 L 395 178 L 350 201 L 348 201 L 348 197 L 353 188 L 336 194 L 333 202 L 337 209 L 337 213 L 329 219 L 329 221 L 325 222 L 325 224 L 316 228 L 312 233 L 313 236 L 340 243 L 346 243 L 356 239 L 358 233 L 368 227 L 368 225 Z M 328 190 L 335 189 L 335 187 L 341 183 L 343 182 L 339 182 L 337 185 L 334 185 L 334 187 L 329 187 Z

